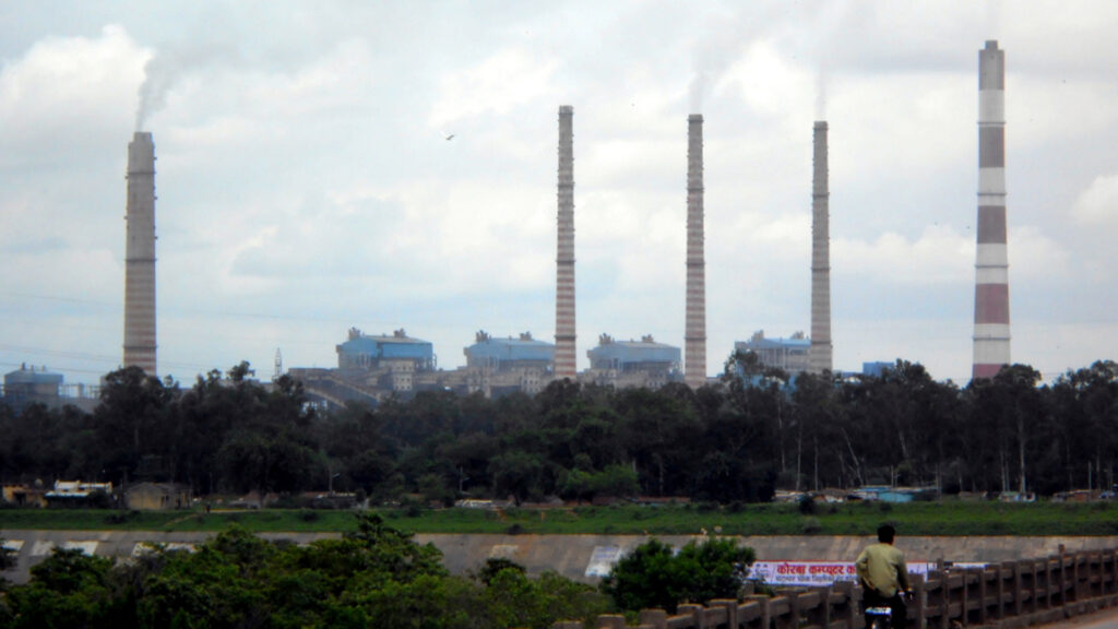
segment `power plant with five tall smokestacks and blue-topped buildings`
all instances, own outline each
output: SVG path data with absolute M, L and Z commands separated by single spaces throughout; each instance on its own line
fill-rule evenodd
M 1006 256 L 1004 51 L 987 41 L 979 51 L 978 219 L 975 264 L 975 378 L 988 378 L 1010 363 L 1008 264 Z M 574 107 L 559 107 L 556 342 L 531 334 L 496 338 L 484 331 L 465 349 L 467 365 L 438 369 L 429 342 L 406 336 L 368 336 L 356 328 L 338 346 L 338 369 L 292 369 L 334 397 L 407 393 L 436 387 L 464 392 L 513 389 L 538 392 L 548 382 L 569 378 L 613 386 L 660 386 L 682 381 L 707 383 L 707 294 L 703 208 L 703 116 L 688 116 L 686 281 L 684 348 L 599 337 L 587 353 L 590 368 L 576 363 Z M 831 337 L 831 257 L 828 125 L 813 125 L 811 336 L 766 338 L 762 331 L 736 349 L 752 351 L 761 363 L 789 373 L 834 368 Z M 155 336 L 155 150 L 150 132 L 135 132 L 129 143 L 127 222 L 124 291 L 124 365 L 157 374 Z M 771 363 L 771 365 L 769 365 Z M 278 370 L 278 367 L 277 367 Z M 326 373 L 331 372 L 331 373 Z

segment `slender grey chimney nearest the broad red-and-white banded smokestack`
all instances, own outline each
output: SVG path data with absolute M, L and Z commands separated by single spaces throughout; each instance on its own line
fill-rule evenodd
M 831 190 L 827 185 L 827 123 L 818 121 L 812 132 L 812 346 L 808 369 L 821 374 L 832 368 L 831 345 Z

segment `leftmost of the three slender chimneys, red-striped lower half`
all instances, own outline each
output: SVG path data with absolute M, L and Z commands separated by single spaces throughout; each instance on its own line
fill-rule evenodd
M 575 364 L 575 107 L 559 107 L 559 246 L 556 257 L 557 378 L 576 377 Z

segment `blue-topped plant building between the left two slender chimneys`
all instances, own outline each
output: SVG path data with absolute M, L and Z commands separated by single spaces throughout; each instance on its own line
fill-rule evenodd
M 615 340 L 598 337 L 598 347 L 586 353 L 590 368 L 582 381 L 598 385 L 659 388 L 670 382 L 683 382 L 679 347 L 656 342 L 651 335 L 641 340 Z

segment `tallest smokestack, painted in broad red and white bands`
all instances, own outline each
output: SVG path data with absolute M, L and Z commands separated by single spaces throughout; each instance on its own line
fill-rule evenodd
M 978 251 L 972 377 L 1010 364 L 1010 262 L 1005 226 L 1005 51 L 978 51 Z

